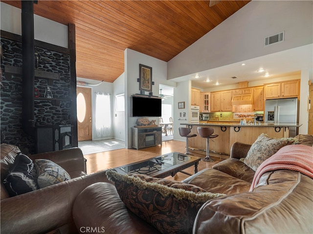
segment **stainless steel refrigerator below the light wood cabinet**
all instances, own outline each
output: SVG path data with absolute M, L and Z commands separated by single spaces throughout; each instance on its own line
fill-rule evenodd
M 271 99 L 265 101 L 265 122 L 298 123 L 298 98 Z M 297 135 L 297 128 L 289 128 L 289 137 Z

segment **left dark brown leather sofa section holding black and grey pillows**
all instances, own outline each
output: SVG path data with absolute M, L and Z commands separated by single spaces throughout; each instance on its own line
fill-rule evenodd
M 63 167 L 70 180 L 30 193 L 9 197 L 3 178 L 14 163 L 20 149 L 1 144 L 1 234 L 78 233 L 72 218 L 75 198 L 87 186 L 96 182 L 109 182 L 105 172 L 87 175 L 86 160 L 79 148 L 30 155 L 33 159 L 46 158 Z M 57 230 L 57 231 L 56 231 Z

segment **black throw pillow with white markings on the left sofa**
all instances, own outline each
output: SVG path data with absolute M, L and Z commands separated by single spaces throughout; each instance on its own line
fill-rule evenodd
M 33 161 L 19 153 L 3 184 L 10 196 L 25 194 L 38 189 L 37 174 Z

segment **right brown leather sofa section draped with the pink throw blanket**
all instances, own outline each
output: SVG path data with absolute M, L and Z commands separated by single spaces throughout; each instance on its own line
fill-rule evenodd
M 239 160 L 249 148 L 236 142 L 229 159 L 182 181 L 226 194 L 203 204 L 193 233 L 313 233 L 313 179 L 290 170 L 267 172 L 249 192 L 255 172 Z M 93 184 L 78 195 L 73 217 L 81 233 L 87 228 L 110 234 L 159 233 L 130 212 L 109 183 Z

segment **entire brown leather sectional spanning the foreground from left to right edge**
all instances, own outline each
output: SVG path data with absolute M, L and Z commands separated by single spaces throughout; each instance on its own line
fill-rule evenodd
M 270 171 L 249 192 L 255 172 L 239 159 L 250 147 L 236 142 L 229 159 L 182 181 L 225 194 L 203 204 L 193 233 L 313 233 L 313 179 L 291 170 Z M 126 208 L 107 171 L 85 175 L 78 148 L 30 156 L 50 158 L 72 179 L 7 197 L 3 176 L 18 152 L 15 146 L 1 145 L 1 233 L 160 233 Z

